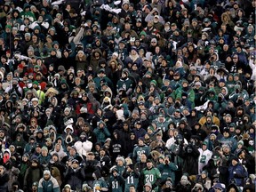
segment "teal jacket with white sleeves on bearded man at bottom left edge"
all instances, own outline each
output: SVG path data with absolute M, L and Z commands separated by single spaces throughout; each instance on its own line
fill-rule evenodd
M 42 178 L 38 183 L 38 192 L 60 192 L 60 186 L 52 176 L 49 180 Z

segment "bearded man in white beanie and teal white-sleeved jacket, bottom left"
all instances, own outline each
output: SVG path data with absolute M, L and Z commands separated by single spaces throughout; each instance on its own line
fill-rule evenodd
M 38 192 L 60 192 L 59 183 L 49 170 L 44 170 L 44 177 L 38 183 Z

